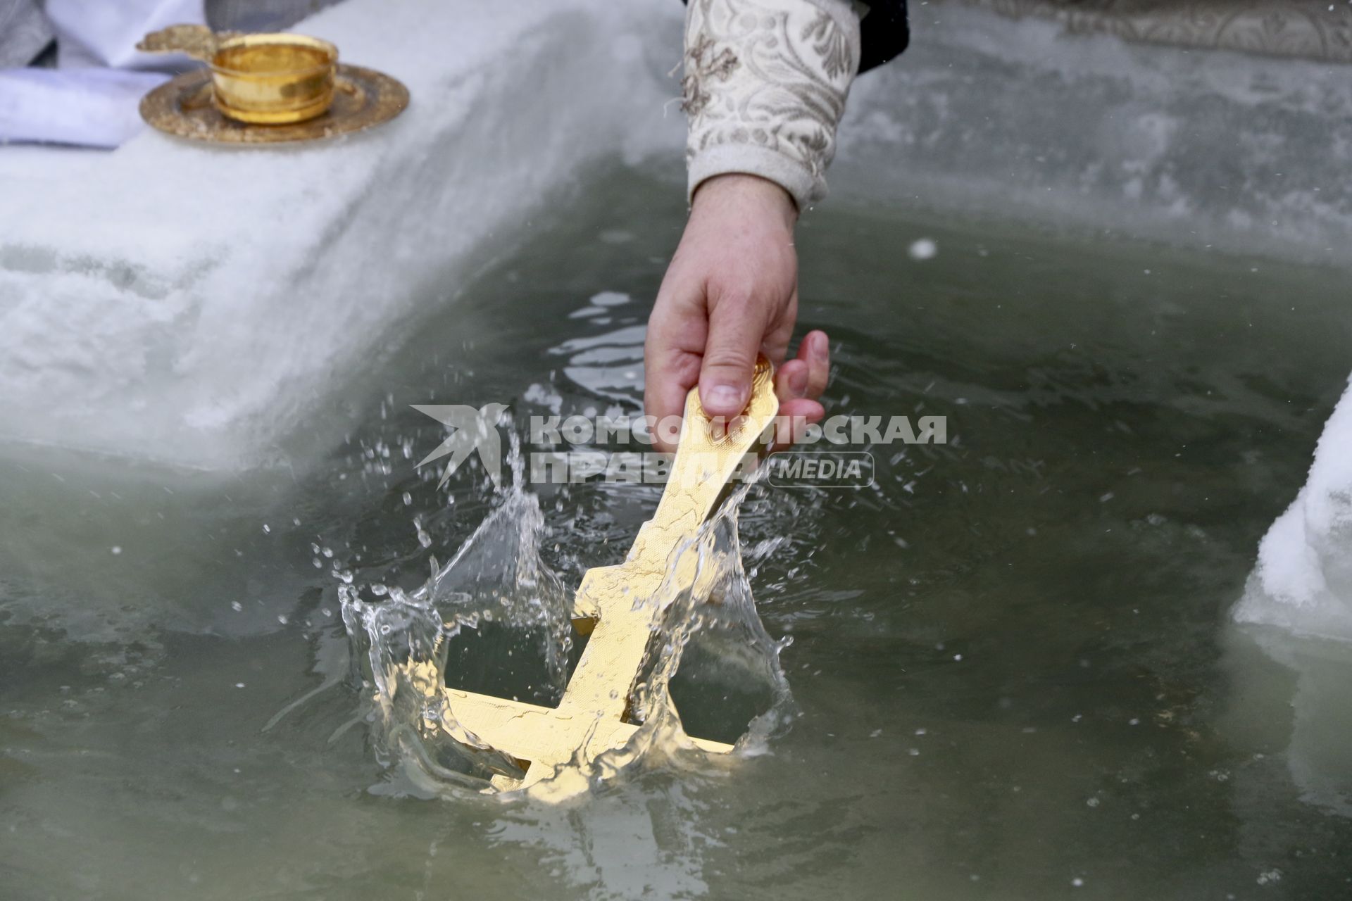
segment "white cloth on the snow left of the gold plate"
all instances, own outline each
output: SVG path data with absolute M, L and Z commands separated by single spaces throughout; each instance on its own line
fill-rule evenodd
M 139 53 L 170 24 L 203 24 L 204 0 L 47 0 L 55 69 L 0 70 L 0 142 L 116 147 L 145 126 L 141 97 L 187 57 Z

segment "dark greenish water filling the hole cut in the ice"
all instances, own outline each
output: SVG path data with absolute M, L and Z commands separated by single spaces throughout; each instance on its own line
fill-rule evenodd
M 1352 652 L 1228 612 L 1305 480 L 1352 326 L 1340 274 L 1259 259 L 810 216 L 802 319 L 836 342 L 831 409 L 945 415 L 950 443 L 875 448 L 869 490 L 749 489 L 741 559 L 767 634 L 794 639 L 792 727 L 565 808 L 429 800 L 439 782 L 384 766 L 404 758 L 364 706 L 339 588 L 384 607 L 443 573 L 453 612 L 476 596 L 456 580 L 522 559 L 443 566 L 504 500 L 477 465 L 443 490 L 415 470 L 443 430 L 410 404 L 637 408 L 681 204 L 611 184 L 354 365 L 323 428 L 297 430 L 345 440 L 297 436 L 289 469 L 5 450 L 7 898 L 1345 897 Z M 913 259 L 922 238 L 937 253 Z M 658 489 L 533 493 L 538 515 L 504 521 L 537 517 L 552 611 L 623 557 Z M 576 652 L 557 621 L 462 629 L 485 652 L 448 667 L 548 698 Z M 512 642 L 504 671 L 493 643 Z M 725 706 L 765 659 L 731 644 L 690 646 L 687 720 L 773 702 Z

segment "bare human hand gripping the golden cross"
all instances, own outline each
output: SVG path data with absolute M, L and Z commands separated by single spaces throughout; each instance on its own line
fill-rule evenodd
M 786 362 L 798 319 L 798 209 L 783 188 L 757 176 L 725 174 L 695 192 L 685 234 L 648 319 L 644 409 L 679 417 L 696 384 L 711 417 L 738 416 L 750 397 L 757 353 L 776 365 L 779 415 L 802 427 L 822 419 L 830 343 L 813 331 Z M 675 446 L 654 430 L 654 446 Z

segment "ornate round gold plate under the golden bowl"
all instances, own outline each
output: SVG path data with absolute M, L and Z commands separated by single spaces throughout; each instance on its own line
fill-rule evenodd
M 218 145 L 273 145 L 337 138 L 389 122 L 408 105 L 396 78 L 338 63 L 329 111 L 292 124 L 253 126 L 227 119 L 211 101 L 211 70 L 195 69 L 160 85 L 141 100 L 141 118 L 160 131 Z

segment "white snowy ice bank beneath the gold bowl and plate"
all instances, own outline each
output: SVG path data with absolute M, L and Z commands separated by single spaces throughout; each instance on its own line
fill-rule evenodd
M 0 438 L 264 461 L 588 162 L 677 151 L 679 23 L 660 0 L 349 0 L 297 30 L 408 85 L 383 128 L 0 150 Z

